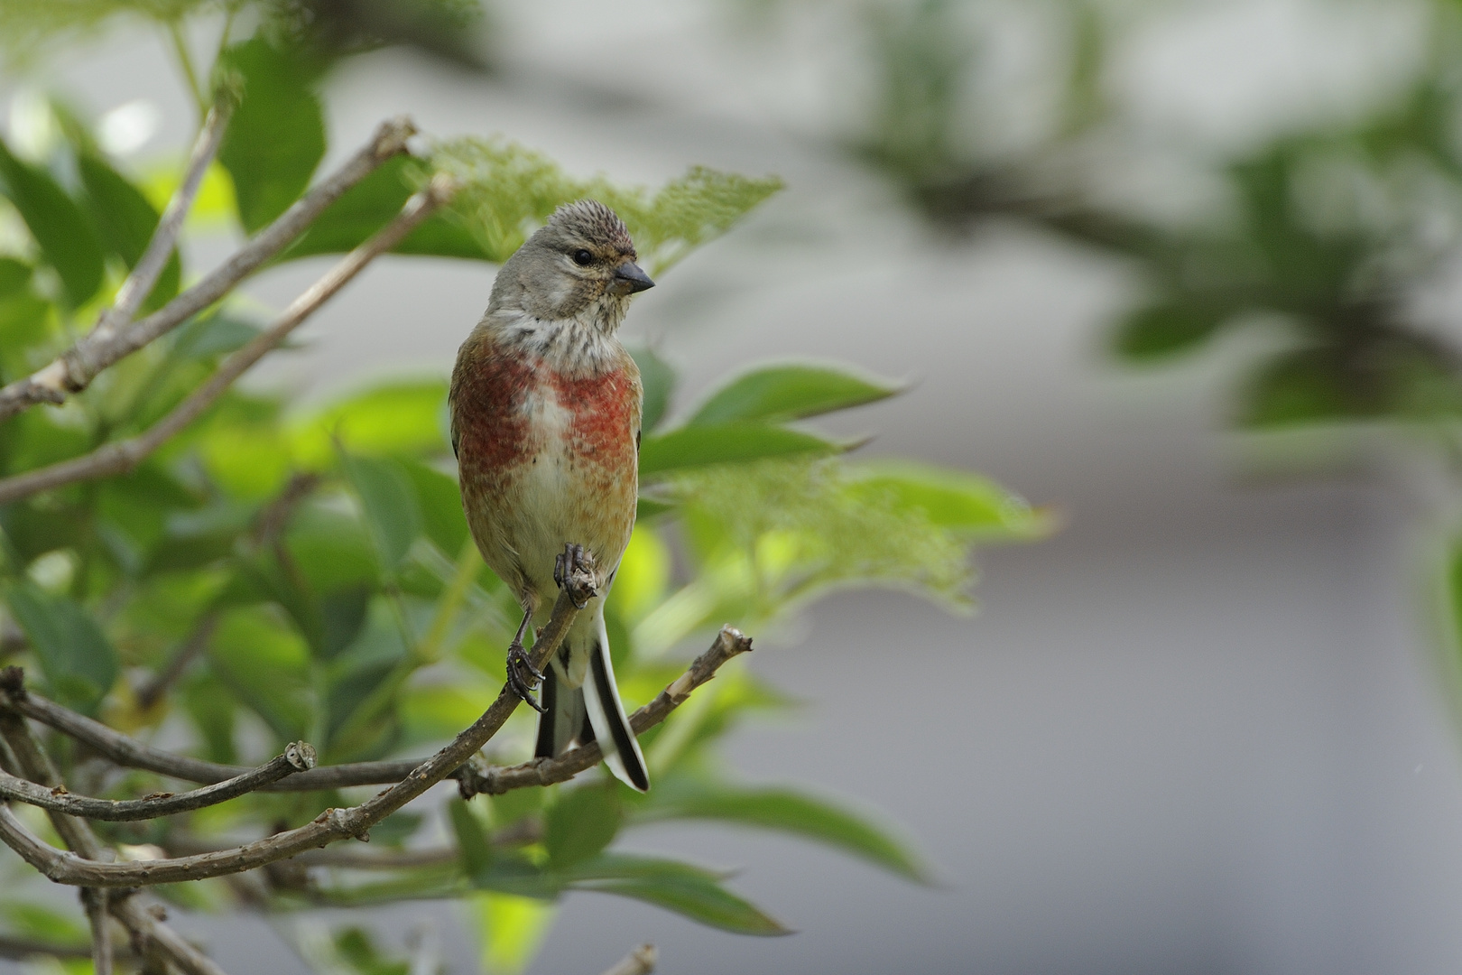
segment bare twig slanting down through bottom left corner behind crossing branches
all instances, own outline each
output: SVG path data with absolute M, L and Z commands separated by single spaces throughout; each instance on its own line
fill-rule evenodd
M 47 756 L 41 748 L 41 743 L 35 738 L 35 734 L 25 724 L 23 718 L 9 710 L 0 710 L 0 737 L 4 738 L 7 746 L 6 759 L 16 763 L 18 772 L 38 785 L 50 788 L 63 785 L 60 775 L 56 772 L 56 766 L 51 765 L 50 756 Z M 83 857 L 83 862 L 101 860 L 102 857 L 108 857 L 111 854 L 111 851 L 107 849 L 99 839 L 96 839 L 96 833 L 94 833 L 91 826 L 86 823 L 60 813 L 47 814 L 50 816 L 51 824 L 56 827 L 61 841 L 76 851 L 76 855 Z M 0 805 L 0 819 L 19 824 L 19 820 L 15 819 L 9 805 Z M 20 829 L 23 830 L 25 827 L 22 826 Z M 58 854 L 51 846 L 47 846 L 47 849 L 53 854 L 76 860 L 76 855 Z M 113 864 L 105 865 L 110 867 Z M 127 933 L 132 936 L 133 950 L 136 950 L 137 955 L 161 956 L 183 969 L 186 975 L 227 975 L 227 972 L 213 963 L 211 957 L 189 944 L 178 936 L 177 931 L 154 917 L 154 914 L 143 903 L 140 903 L 139 898 L 108 898 L 107 909 L 114 918 L 121 921 L 124 928 L 127 928 Z

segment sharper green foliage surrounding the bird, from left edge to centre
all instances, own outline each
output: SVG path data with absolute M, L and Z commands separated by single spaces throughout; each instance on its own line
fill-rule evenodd
M 193 7 L 77 1 L 64 13 L 4 10 L 0 29 L 31 18 L 25 29 L 45 32 L 118 12 L 175 25 Z M 219 162 L 234 218 L 249 232 L 307 189 L 326 152 L 316 86 L 339 51 L 306 44 L 288 26 L 263 18 L 253 37 L 225 34 L 213 70 L 238 88 Z M 0 145 L 7 216 L 29 229 L 19 250 L 0 257 L 0 382 L 67 348 L 111 301 L 158 222 L 155 203 L 96 148 L 80 113 L 60 104 L 51 111 L 69 137 L 48 158 Z M 694 168 L 651 191 L 572 177 L 503 139 L 444 140 L 355 186 L 282 260 L 354 247 L 439 171 L 465 190 L 450 213 L 406 238 L 404 253 L 501 260 L 553 208 L 592 194 L 626 218 L 656 272 L 779 187 L 775 178 Z M 174 256 L 154 304 L 180 281 Z M 64 406 L 0 422 L 0 478 L 148 428 L 259 335 L 250 316 L 249 306 L 225 300 Z M 637 358 L 646 380 L 646 496 L 607 604 L 630 707 L 675 677 L 683 652 L 725 618 L 775 631 L 779 618 L 830 586 L 896 586 L 965 605 L 974 542 L 1045 531 L 1039 512 L 988 481 L 901 462 L 852 463 L 842 455 L 857 444 L 803 425 L 896 395 L 898 383 L 836 364 L 772 364 L 709 390 L 671 425 L 674 368 L 648 351 Z M 282 395 L 235 389 L 132 474 L 0 507 L 0 646 L 45 694 L 133 735 L 165 726 L 213 762 L 257 763 L 300 738 L 325 765 L 360 762 L 412 754 L 453 735 L 501 686 L 516 607 L 469 539 L 442 428 L 444 393 L 443 377 L 404 379 L 306 409 Z M 876 819 L 724 773 L 725 735 L 787 703 L 750 669 L 728 665 L 643 737 L 656 782 L 651 795 L 591 775 L 398 813 L 373 830 L 374 848 L 433 849 L 446 836 L 450 855 L 389 871 L 270 870 L 251 887 L 251 903 L 285 912 L 459 898 L 480 919 L 484 965 L 507 971 L 528 963 L 553 903 L 569 890 L 636 898 L 730 931 L 785 931 L 734 893 L 725 874 L 618 852 L 630 827 L 677 819 L 750 824 L 927 880 L 909 845 Z M 529 753 L 531 721 L 520 713 L 490 759 Z M 167 788 L 152 773 L 98 775 L 73 750 L 58 757 L 77 791 L 129 797 Z M 306 823 L 351 795 L 256 792 L 96 829 L 111 843 L 178 851 Z M 159 893 L 196 909 L 240 906 L 222 881 Z M 16 936 L 38 930 L 32 915 L 0 912 Z M 67 917 L 50 925 L 57 950 L 75 941 L 76 924 Z M 360 930 L 304 940 L 322 969 L 406 971 Z

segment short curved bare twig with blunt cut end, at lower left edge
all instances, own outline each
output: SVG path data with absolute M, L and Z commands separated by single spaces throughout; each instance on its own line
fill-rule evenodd
M 257 769 L 215 785 L 205 785 L 200 789 L 183 792 L 181 795 L 159 792 L 155 797 L 142 800 L 96 800 L 89 795 L 73 795 L 60 786 L 45 788 L 44 785 L 0 772 L 0 798 L 39 805 L 44 810 L 66 813 L 67 816 L 99 819 L 111 823 L 130 823 L 139 819 L 158 819 L 190 813 L 208 805 L 218 805 L 240 795 L 257 792 L 260 786 L 278 782 L 287 775 L 313 767 L 314 748 L 304 741 L 295 741 L 285 748 L 284 754 Z

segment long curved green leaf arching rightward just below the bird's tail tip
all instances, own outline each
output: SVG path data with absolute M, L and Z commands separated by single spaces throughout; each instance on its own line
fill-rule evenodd
M 636 819 L 709 819 L 772 829 L 826 843 L 908 880 L 930 881 L 928 868 L 886 827 L 792 789 L 703 784 L 670 788 L 652 795 Z

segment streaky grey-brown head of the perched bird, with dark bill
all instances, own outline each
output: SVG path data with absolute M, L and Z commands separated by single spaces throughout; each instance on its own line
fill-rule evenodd
M 598 200 L 564 203 L 497 272 L 488 314 L 515 310 L 617 329 L 630 295 L 655 285 L 635 259 L 614 210 Z

